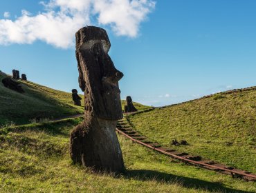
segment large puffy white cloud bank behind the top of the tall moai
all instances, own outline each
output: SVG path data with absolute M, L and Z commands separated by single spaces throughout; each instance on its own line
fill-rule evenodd
M 26 10 L 16 20 L 0 19 L 0 44 L 40 40 L 59 48 L 74 44 L 75 32 L 87 25 L 110 26 L 120 36 L 136 37 L 140 23 L 154 9 L 153 0 L 50 0 L 44 12 Z M 95 17 L 98 23 L 92 23 Z

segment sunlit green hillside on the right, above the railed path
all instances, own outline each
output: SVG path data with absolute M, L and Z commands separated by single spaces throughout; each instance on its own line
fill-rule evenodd
M 149 139 L 256 173 L 256 88 L 128 116 Z M 190 145 L 170 145 L 172 139 Z

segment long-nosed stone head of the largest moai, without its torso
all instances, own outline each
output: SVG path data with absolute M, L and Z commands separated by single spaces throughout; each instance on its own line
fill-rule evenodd
M 80 29 L 75 37 L 85 113 L 100 119 L 122 119 L 118 81 L 123 74 L 116 70 L 109 57 L 111 44 L 107 32 L 102 28 L 87 26 Z

